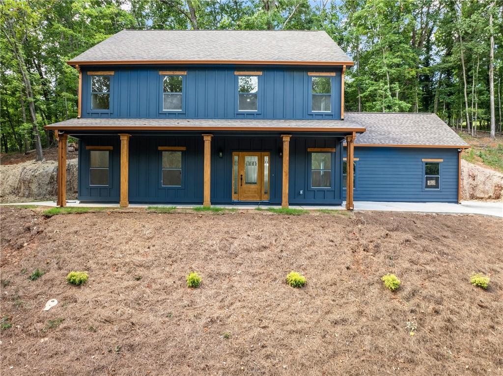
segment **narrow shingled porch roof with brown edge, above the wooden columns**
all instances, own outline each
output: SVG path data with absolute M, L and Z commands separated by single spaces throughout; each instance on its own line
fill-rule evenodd
M 348 132 L 365 128 L 348 126 L 342 120 L 282 119 L 69 119 L 44 127 L 49 130 L 117 131 L 260 131 L 260 132 Z

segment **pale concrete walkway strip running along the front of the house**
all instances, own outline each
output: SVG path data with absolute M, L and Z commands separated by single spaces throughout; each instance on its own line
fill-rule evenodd
M 55 207 L 55 201 L 39 201 L 28 203 L 2 204 L 2 205 L 37 205 Z M 87 208 L 118 208 L 119 204 L 110 203 L 80 203 L 77 200 L 67 201 L 68 207 L 87 207 Z M 148 206 L 172 206 L 172 205 L 144 205 L 130 204 L 130 208 L 146 208 Z M 200 205 L 177 205 L 177 208 L 193 208 Z M 259 205 L 214 205 L 219 208 L 234 209 L 256 209 Z M 274 205 L 260 205 L 262 208 L 281 208 Z M 299 206 L 291 205 L 291 209 L 331 209 L 344 210 L 345 203 L 342 206 Z M 463 201 L 461 204 L 451 203 L 384 203 L 374 201 L 356 201 L 355 211 L 384 211 L 384 212 L 417 212 L 417 213 L 439 213 L 439 214 L 481 214 L 503 218 L 503 202 L 485 202 L 485 201 Z

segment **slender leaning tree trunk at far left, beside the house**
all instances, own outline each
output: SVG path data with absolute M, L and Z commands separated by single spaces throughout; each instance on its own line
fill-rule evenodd
M 33 90 L 31 86 L 30 76 L 28 75 L 28 69 L 26 68 L 25 59 L 23 53 L 16 39 L 16 32 L 14 30 L 14 20 L 10 19 L 4 24 L 4 34 L 7 41 L 11 45 L 12 52 L 18 63 L 18 67 L 21 73 L 21 78 L 25 86 L 26 98 L 28 100 L 28 109 L 30 111 L 30 117 L 32 122 L 33 134 L 35 135 L 35 149 L 37 150 L 36 161 L 44 161 L 44 154 L 42 152 L 42 142 L 40 140 L 40 132 L 37 126 L 37 116 L 35 115 L 35 102 L 33 98 Z

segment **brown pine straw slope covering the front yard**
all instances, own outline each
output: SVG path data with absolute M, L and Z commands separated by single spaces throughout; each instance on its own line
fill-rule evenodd
M 1 316 L 12 324 L 0 332 L 2 375 L 503 372 L 496 218 L 1 216 Z M 35 281 L 21 273 L 36 268 Z M 68 285 L 70 270 L 89 280 Z M 198 289 L 186 287 L 192 270 Z M 290 270 L 304 288 L 286 285 Z M 474 271 L 490 274 L 487 291 L 470 285 Z M 386 273 L 401 280 L 395 293 Z

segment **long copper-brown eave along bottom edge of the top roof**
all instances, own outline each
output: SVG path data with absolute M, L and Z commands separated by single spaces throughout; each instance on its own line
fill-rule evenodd
M 68 65 L 195 65 L 195 64 L 234 64 L 234 65 L 319 65 L 353 66 L 353 61 L 272 61 L 272 60 L 68 60 Z

